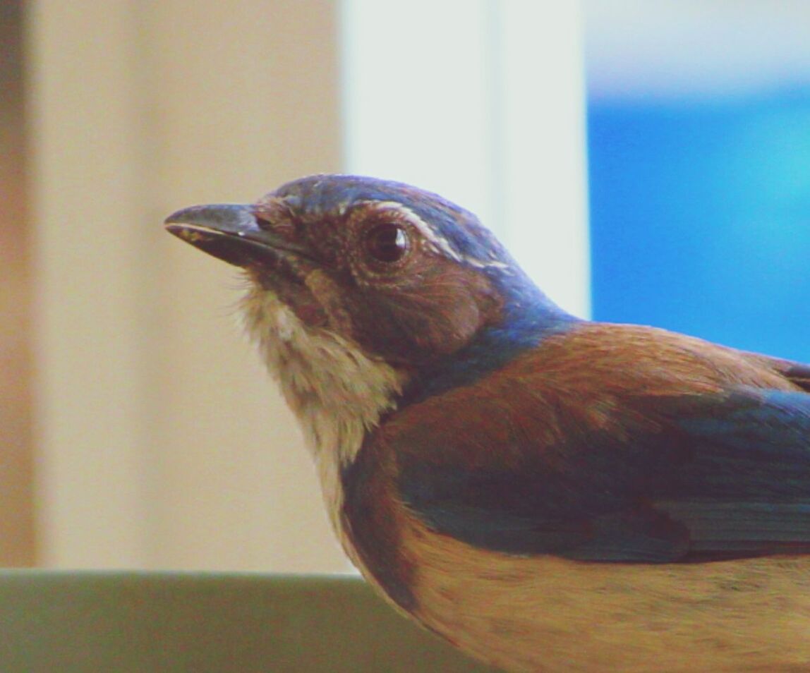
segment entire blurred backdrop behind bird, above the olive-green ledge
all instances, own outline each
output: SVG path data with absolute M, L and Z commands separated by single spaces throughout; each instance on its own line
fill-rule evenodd
M 0 0 L 0 564 L 335 572 L 232 268 L 308 173 L 477 212 L 582 316 L 810 360 L 804 0 Z

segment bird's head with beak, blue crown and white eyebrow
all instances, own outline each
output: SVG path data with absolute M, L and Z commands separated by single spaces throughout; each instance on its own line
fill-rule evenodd
M 475 215 L 408 185 L 305 177 L 249 205 L 185 208 L 166 224 L 245 270 L 259 339 L 295 347 L 291 339 L 326 335 L 385 363 L 405 387 L 424 387 L 486 335 L 531 340 L 552 314 L 565 316 Z

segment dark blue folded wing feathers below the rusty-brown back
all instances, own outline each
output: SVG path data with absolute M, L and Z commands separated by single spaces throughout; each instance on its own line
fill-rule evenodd
M 625 562 L 810 553 L 810 395 L 740 388 L 648 403 L 659 432 L 577 428 L 576 446 L 553 451 L 580 457 L 565 470 L 536 453 L 501 472 L 406 458 L 400 491 L 428 526 L 508 553 Z

